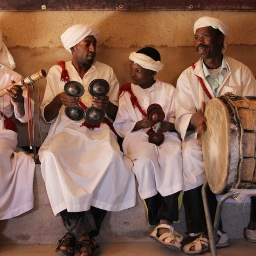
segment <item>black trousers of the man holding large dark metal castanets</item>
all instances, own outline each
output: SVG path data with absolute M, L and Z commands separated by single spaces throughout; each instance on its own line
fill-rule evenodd
M 67 209 L 60 212 L 64 226 L 78 240 L 81 236 L 99 235 L 102 221 L 107 211 L 91 206 L 85 212 L 68 212 Z

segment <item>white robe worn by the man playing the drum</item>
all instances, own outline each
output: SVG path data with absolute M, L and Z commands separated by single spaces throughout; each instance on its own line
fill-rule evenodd
M 216 97 L 222 96 L 226 92 L 232 92 L 238 96 L 256 96 L 256 80 L 250 69 L 239 61 L 230 57 L 224 57 L 229 67 L 229 72 L 224 75 L 224 80 L 218 87 Z M 209 102 L 207 94 L 204 92 L 198 77 L 204 81 L 207 90 L 214 98 L 212 89 L 204 77 L 202 60 L 181 73 L 177 80 L 176 121 L 175 128 L 180 132 L 183 139 L 183 191 L 194 189 L 206 180 L 201 143 L 197 139 L 197 133 L 187 133 L 187 128 L 192 115 L 201 109 L 201 102 Z

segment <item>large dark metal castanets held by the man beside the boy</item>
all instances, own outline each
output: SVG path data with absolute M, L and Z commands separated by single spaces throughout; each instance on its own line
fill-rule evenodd
M 64 86 L 64 91 L 67 95 L 81 97 L 84 94 L 84 87 L 77 81 L 69 81 Z M 88 91 L 91 96 L 105 96 L 109 91 L 109 84 L 104 79 L 94 79 L 90 82 Z M 94 106 L 84 110 L 81 106 L 66 107 L 65 114 L 72 120 L 78 121 L 83 117 L 90 125 L 98 125 L 105 117 L 105 112 L 102 109 Z

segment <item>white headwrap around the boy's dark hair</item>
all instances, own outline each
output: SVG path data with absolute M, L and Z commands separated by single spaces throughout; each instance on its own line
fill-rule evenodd
M 148 55 L 145 55 L 143 53 L 132 52 L 129 56 L 129 59 L 148 70 L 158 72 L 163 68 L 163 64 L 161 63 L 161 61 L 155 61 Z

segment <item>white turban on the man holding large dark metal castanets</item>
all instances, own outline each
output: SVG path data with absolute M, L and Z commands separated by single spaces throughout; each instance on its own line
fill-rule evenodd
M 69 27 L 62 35 L 61 42 L 65 49 L 71 53 L 70 48 L 81 42 L 89 35 L 99 39 L 99 29 L 93 24 L 76 24 Z

